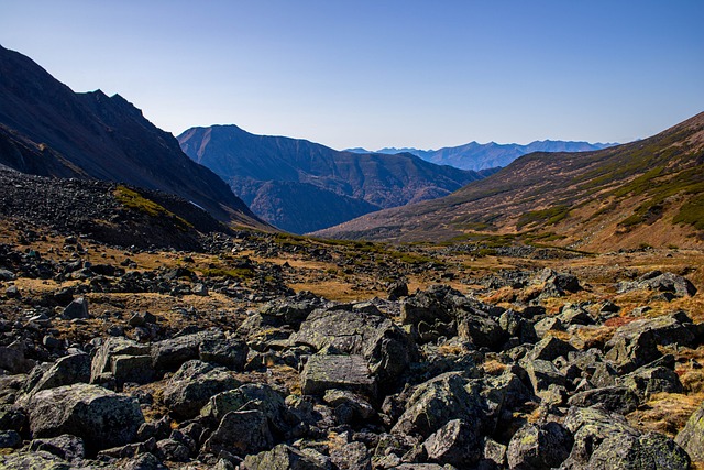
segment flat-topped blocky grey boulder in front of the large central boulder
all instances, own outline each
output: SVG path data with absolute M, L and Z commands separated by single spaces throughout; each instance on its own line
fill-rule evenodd
M 329 389 L 348 390 L 376 396 L 376 381 L 362 356 L 314 354 L 300 374 L 306 395 L 324 393 Z

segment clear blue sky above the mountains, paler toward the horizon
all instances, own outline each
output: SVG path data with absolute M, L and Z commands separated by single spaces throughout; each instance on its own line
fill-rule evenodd
M 175 134 L 627 142 L 704 111 L 703 0 L 0 0 L 0 44 Z

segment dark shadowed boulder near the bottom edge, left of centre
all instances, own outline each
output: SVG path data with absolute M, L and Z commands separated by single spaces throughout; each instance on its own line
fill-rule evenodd
M 244 457 L 271 449 L 273 445 L 274 438 L 266 416 L 252 409 L 224 415 L 218 428 L 204 444 L 204 450 L 216 455 L 224 450 Z

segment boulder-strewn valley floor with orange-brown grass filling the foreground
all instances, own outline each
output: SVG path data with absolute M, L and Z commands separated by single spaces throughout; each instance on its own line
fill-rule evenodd
M 0 468 L 702 468 L 704 253 L 31 220 L 0 222 Z

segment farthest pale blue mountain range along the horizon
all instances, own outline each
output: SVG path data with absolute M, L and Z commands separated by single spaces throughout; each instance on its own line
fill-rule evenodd
M 572 141 L 535 141 L 527 145 L 517 143 L 498 144 L 490 142 L 481 144 L 470 142 L 460 146 L 440 150 L 394 149 L 385 147 L 375 153 L 396 154 L 410 153 L 438 165 L 451 165 L 462 170 L 485 170 L 508 165 L 521 155 L 532 152 L 590 152 L 614 146 L 614 143 L 588 143 Z M 350 152 L 365 153 L 364 149 L 350 149 Z

